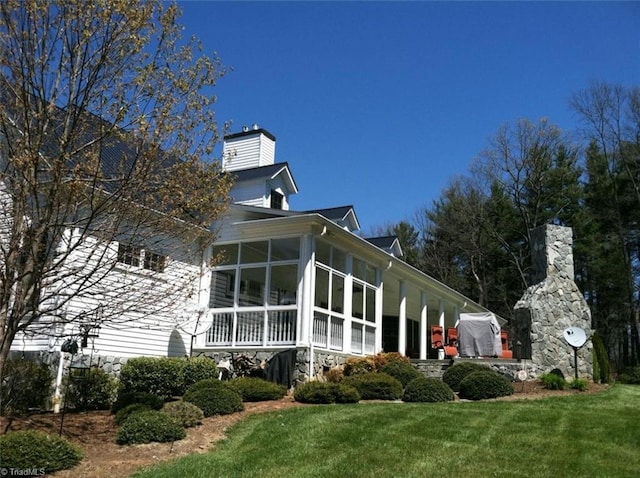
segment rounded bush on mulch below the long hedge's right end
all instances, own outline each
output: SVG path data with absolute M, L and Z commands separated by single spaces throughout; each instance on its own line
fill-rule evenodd
M 240 394 L 217 379 L 194 383 L 182 399 L 200 408 L 205 417 L 228 415 L 244 410 Z

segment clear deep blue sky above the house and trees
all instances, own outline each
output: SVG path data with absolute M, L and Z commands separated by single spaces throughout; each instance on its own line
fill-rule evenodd
M 638 2 L 180 4 L 233 68 L 219 121 L 276 136 L 292 209 L 350 204 L 365 233 L 431 205 L 501 124 L 569 132 L 589 81 L 640 85 Z

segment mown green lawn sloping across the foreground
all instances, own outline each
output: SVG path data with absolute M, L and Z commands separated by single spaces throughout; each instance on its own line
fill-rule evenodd
M 640 387 L 543 400 L 300 407 L 253 415 L 162 477 L 629 477 Z

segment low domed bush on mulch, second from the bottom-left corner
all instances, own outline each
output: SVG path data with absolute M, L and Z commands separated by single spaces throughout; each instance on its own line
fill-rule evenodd
M 164 443 L 182 440 L 186 435 L 184 427 L 174 418 L 157 410 L 148 410 L 134 413 L 124 421 L 116 435 L 116 443 Z

